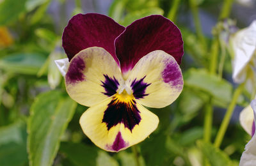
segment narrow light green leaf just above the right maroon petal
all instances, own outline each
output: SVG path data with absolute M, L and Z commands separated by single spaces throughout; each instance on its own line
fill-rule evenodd
M 120 22 L 123 26 L 129 26 L 134 20 L 141 19 L 142 17 L 146 17 L 148 15 L 163 15 L 164 11 L 161 8 L 147 8 L 140 11 L 134 11 L 132 13 L 128 13 L 124 20 Z

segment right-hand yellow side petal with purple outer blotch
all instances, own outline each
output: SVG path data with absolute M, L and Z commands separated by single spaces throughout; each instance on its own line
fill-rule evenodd
M 182 73 L 175 59 L 156 50 L 138 61 L 125 82 L 127 92 L 147 107 L 161 108 L 174 102 L 183 88 Z

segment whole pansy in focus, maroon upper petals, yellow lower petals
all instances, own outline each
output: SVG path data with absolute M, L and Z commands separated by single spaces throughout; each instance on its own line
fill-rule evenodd
M 81 128 L 106 151 L 146 139 L 159 119 L 143 105 L 166 107 L 182 91 L 182 36 L 161 15 L 125 28 L 105 15 L 78 14 L 62 40 L 70 62 L 60 59 L 56 64 L 65 75 L 67 93 L 90 107 L 81 116 Z

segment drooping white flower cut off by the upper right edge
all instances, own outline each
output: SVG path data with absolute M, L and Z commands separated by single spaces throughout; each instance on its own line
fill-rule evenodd
M 239 84 L 246 81 L 248 91 L 255 91 L 256 20 L 249 27 L 234 34 L 230 41 L 234 53 L 232 79 Z

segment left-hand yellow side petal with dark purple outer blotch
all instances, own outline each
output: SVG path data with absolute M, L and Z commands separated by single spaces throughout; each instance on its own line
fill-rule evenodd
M 81 50 L 70 61 L 65 75 L 69 96 L 88 107 L 115 94 L 123 82 L 118 64 L 101 47 Z

